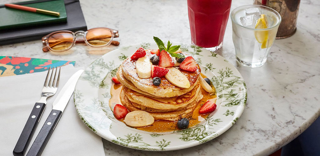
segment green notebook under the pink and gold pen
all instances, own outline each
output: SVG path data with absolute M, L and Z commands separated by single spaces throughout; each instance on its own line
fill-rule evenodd
M 67 22 L 67 12 L 63 0 L 54 0 L 46 2 L 35 2 L 24 4 L 24 6 L 44 9 L 54 12 L 60 12 L 60 17 L 46 15 L 36 12 L 28 12 L 8 7 L 0 8 L 0 30 L 12 29 L 18 27 L 39 26 L 50 23 Z M 19 3 L 18 3 L 19 4 Z

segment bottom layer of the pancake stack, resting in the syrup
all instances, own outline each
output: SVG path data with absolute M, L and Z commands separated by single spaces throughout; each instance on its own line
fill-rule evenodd
M 196 109 L 196 106 L 198 102 L 203 98 L 203 95 L 200 93 L 200 95 L 196 97 L 197 98 L 193 102 L 191 102 L 190 105 L 186 106 L 185 108 L 179 111 L 148 113 L 150 113 L 155 118 L 155 120 L 178 121 L 180 115 L 181 117 L 186 117 Z M 127 98 L 124 91 L 121 92 L 121 101 L 122 105 L 124 105 L 131 112 L 141 110 L 140 108 L 137 108 L 134 105 L 132 105 L 131 101 Z

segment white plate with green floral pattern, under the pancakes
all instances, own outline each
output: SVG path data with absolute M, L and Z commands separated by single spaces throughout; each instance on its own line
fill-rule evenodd
M 244 110 L 247 91 L 237 69 L 220 55 L 195 45 L 181 45 L 199 63 L 202 73 L 213 82 L 217 92 L 217 109 L 194 127 L 165 133 L 151 133 L 126 126 L 109 108 L 111 78 L 124 59 L 139 47 L 156 49 L 156 43 L 141 43 L 111 51 L 92 62 L 80 76 L 74 92 L 76 111 L 93 132 L 125 147 L 148 150 L 178 150 L 203 144 L 221 135 L 239 119 Z

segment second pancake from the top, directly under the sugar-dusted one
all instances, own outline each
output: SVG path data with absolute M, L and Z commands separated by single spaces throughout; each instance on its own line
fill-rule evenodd
M 174 110 L 180 110 L 182 108 L 185 108 L 187 105 L 192 103 L 197 98 L 197 96 L 199 96 L 199 94 L 201 94 L 199 82 L 196 84 L 196 87 L 194 87 L 193 90 L 177 97 L 155 98 L 155 97 L 148 97 L 139 92 L 131 90 L 127 87 L 123 87 L 122 90 L 125 93 L 126 97 L 132 103 L 141 105 L 141 107 L 148 107 L 148 108 L 153 108 L 157 110 L 166 110 L 166 111 L 168 110 L 174 111 Z

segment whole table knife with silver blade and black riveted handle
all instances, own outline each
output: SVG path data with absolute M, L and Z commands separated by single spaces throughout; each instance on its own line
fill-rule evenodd
M 58 124 L 58 121 L 60 120 L 60 117 L 64 109 L 66 108 L 68 101 L 73 94 L 73 91 L 75 90 L 76 82 L 82 72 L 83 70 L 79 70 L 75 74 L 73 74 L 59 92 L 58 96 L 52 104 L 52 111 L 50 112 L 47 120 L 42 126 L 35 141 L 31 145 L 27 156 L 39 156 L 43 152 L 45 145 L 48 143 L 53 130 Z

